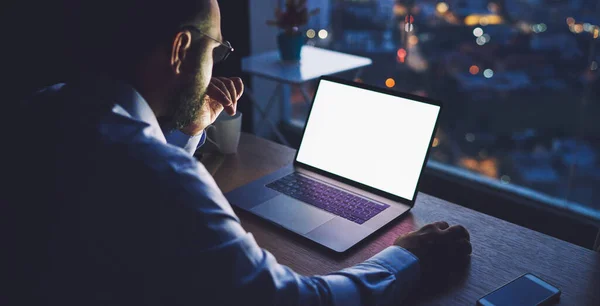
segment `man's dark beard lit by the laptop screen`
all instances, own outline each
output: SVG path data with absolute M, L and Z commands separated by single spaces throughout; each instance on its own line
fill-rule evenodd
M 195 74 L 179 86 L 171 95 L 171 125 L 176 129 L 193 123 L 199 116 L 205 103 L 206 86 L 200 74 Z

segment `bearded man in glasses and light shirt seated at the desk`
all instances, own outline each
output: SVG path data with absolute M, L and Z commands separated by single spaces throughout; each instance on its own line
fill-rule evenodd
M 437 222 L 328 275 L 278 264 L 192 156 L 244 91 L 212 76 L 233 51 L 217 2 L 72 2 L 80 74 L 19 113 L 10 305 L 397 305 L 468 260 Z

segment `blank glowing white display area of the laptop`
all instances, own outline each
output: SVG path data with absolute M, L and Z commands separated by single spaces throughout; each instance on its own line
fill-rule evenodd
M 440 107 L 321 80 L 297 161 L 413 200 Z

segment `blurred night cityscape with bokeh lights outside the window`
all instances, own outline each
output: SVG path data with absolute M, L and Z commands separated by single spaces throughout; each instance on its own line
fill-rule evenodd
M 600 0 L 309 4 L 309 44 L 373 59 L 357 81 L 444 102 L 432 160 L 600 218 Z

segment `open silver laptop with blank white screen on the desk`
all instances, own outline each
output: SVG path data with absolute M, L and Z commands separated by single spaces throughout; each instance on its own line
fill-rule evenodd
M 225 196 L 336 252 L 408 212 L 438 101 L 321 77 L 293 164 Z

